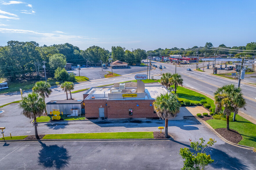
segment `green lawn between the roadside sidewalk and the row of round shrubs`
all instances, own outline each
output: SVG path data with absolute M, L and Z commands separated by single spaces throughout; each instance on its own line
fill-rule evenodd
M 174 87 L 174 86 L 171 86 L 171 87 Z M 178 86 L 176 93 L 179 96 L 179 98 L 181 98 L 183 100 L 187 99 L 187 100 L 190 100 L 191 102 L 195 103 L 196 101 L 205 99 L 208 104 L 210 104 L 211 106 L 214 106 L 214 101 L 212 99 L 210 99 L 209 97 L 206 97 L 205 95 L 202 95 L 201 93 L 197 93 L 193 90 L 189 90 L 187 88 Z

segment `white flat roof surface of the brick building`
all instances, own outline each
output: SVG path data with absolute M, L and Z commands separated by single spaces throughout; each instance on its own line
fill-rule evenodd
M 137 87 L 129 87 L 126 89 L 133 89 L 133 88 L 137 88 Z M 90 88 L 86 93 L 84 94 L 89 94 L 90 95 L 96 95 L 96 94 L 101 94 L 102 97 L 95 97 L 95 99 L 108 99 L 107 94 L 110 93 L 110 90 L 118 90 L 119 88 L 113 88 L 113 87 L 108 87 L 108 88 L 102 88 L 102 87 L 92 87 Z M 105 93 L 105 97 L 104 96 Z M 145 98 L 126 98 L 126 99 L 108 99 L 108 100 L 141 100 L 141 99 L 145 99 L 145 100 L 154 100 L 156 99 L 156 97 L 158 95 L 161 94 L 165 94 L 168 93 L 168 91 L 166 90 L 166 88 L 162 85 L 158 85 L 158 86 L 145 86 Z M 88 97 L 89 97 L 88 96 Z M 86 98 L 88 98 L 86 97 Z M 86 99 L 85 98 L 85 99 Z M 90 100 L 94 100 L 94 99 L 90 99 Z

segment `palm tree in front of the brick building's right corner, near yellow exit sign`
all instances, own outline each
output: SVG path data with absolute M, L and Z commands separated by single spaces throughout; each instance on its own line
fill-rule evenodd
M 176 94 L 166 93 L 157 96 L 154 103 L 154 110 L 158 117 L 165 119 L 165 137 L 168 137 L 168 119 L 176 117 L 180 110 L 180 104 Z

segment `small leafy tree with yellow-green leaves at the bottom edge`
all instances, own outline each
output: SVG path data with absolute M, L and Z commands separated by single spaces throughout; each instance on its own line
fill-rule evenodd
M 190 147 L 194 149 L 195 153 L 192 153 L 188 148 L 180 149 L 179 154 L 185 159 L 185 161 L 183 161 L 184 166 L 181 168 L 182 170 L 203 170 L 206 169 L 205 166 L 214 162 L 211 156 L 207 155 L 205 151 L 217 141 L 210 138 L 207 144 L 204 144 L 205 140 L 203 140 L 203 138 L 199 140 L 200 143 L 198 141 L 191 142 L 192 140 L 189 139 Z

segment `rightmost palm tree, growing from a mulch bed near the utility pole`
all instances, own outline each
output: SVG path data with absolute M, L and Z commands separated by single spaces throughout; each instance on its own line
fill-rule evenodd
M 238 113 L 239 108 L 244 108 L 246 106 L 246 101 L 243 97 L 240 87 L 235 87 L 234 84 L 224 85 L 217 89 L 214 93 L 214 99 L 217 110 L 221 110 L 224 106 L 223 113 L 226 114 L 227 118 L 227 130 L 229 130 L 229 116 L 231 112 L 234 115 Z

